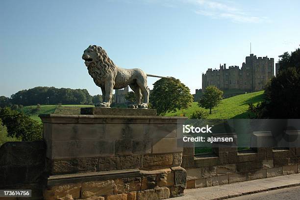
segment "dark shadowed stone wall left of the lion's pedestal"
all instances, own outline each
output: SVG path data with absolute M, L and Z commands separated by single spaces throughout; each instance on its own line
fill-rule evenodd
M 0 189 L 31 189 L 30 199 L 42 199 L 45 154 L 43 142 L 7 142 L 0 146 Z

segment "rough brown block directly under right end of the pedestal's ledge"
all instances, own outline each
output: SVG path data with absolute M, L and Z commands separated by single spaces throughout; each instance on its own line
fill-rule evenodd
M 141 178 L 118 178 L 114 179 L 114 194 L 141 190 Z

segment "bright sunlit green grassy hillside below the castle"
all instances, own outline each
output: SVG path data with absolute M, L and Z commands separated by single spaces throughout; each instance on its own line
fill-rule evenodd
M 212 114 L 210 114 L 208 118 L 248 118 L 248 104 L 261 102 L 263 100 L 263 93 L 264 91 L 258 91 L 223 99 L 222 103 L 212 111 Z M 199 108 L 197 104 L 198 102 L 193 102 L 190 108 L 175 113 L 167 113 L 166 116 L 190 116 L 194 111 L 203 109 Z

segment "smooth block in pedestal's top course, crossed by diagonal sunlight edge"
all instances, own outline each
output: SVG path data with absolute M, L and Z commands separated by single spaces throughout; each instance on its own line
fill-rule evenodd
M 145 138 L 176 138 L 177 124 L 145 124 Z

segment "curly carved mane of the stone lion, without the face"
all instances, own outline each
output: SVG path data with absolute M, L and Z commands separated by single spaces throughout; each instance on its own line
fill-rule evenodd
M 115 63 L 107 56 L 107 53 L 101 47 L 96 45 L 88 47 L 98 54 L 98 60 L 92 62 L 88 66 L 88 71 L 94 81 L 101 81 L 106 78 L 116 68 Z

